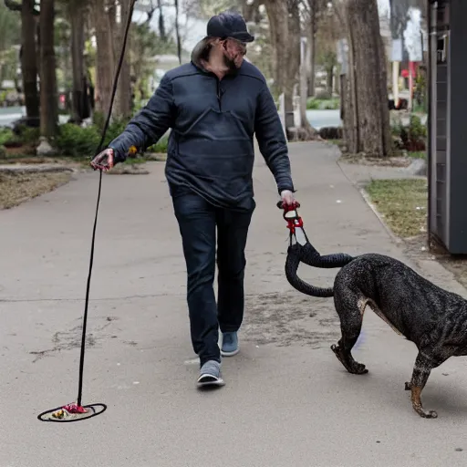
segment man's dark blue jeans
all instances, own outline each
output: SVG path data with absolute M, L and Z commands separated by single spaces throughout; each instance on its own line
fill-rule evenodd
M 220 362 L 218 329 L 237 331 L 244 318 L 244 248 L 254 208 L 250 212 L 216 208 L 194 193 L 173 198 L 173 208 L 188 275 L 192 347 L 201 365 L 211 359 Z M 216 227 L 217 304 L 213 289 Z

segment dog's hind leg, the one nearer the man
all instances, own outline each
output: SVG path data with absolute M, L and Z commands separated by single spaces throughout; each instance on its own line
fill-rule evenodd
M 331 349 L 349 373 L 364 375 L 368 373 L 368 369 L 352 357 L 351 350 L 360 335 L 363 312 L 367 306 L 367 300 L 365 298 L 358 298 L 354 293 L 346 290 L 346 293 L 343 294 L 343 299 L 341 299 L 340 295 L 335 296 L 335 305 L 337 314 L 340 317 L 342 337 L 337 342 L 337 346 L 333 344 Z

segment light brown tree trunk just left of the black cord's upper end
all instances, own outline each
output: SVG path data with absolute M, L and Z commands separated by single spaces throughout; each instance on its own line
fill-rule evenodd
M 107 114 L 109 112 L 114 73 L 113 25 L 105 9 L 105 0 L 94 0 L 93 6 L 98 45 L 95 106 L 97 112 Z

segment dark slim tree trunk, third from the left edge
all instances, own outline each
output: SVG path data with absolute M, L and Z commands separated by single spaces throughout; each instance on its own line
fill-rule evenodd
M 80 124 L 88 118 L 84 73 L 84 10 L 77 2 L 69 9 L 71 23 L 71 59 L 73 68 L 72 119 Z

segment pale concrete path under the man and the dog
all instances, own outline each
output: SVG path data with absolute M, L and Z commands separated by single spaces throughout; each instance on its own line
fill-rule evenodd
M 373 251 L 410 263 L 334 150 L 290 150 L 300 213 L 322 254 Z M 329 348 L 339 337 L 332 299 L 300 295 L 285 280 L 287 231 L 260 155 L 241 352 L 223 361 L 225 388 L 197 391 L 182 244 L 164 165 L 149 167 L 149 175 L 103 180 L 83 402 L 109 409 L 92 420 L 60 425 L 36 416 L 76 398 L 99 175 L 78 174 L 0 212 L 0 467 L 466 464 L 464 360 L 431 374 L 423 402 L 438 420 L 421 420 L 404 390 L 416 348 L 369 311 L 355 351 L 369 373 L 344 370 Z M 417 267 L 463 294 L 441 266 Z M 327 285 L 336 271 L 300 274 Z

